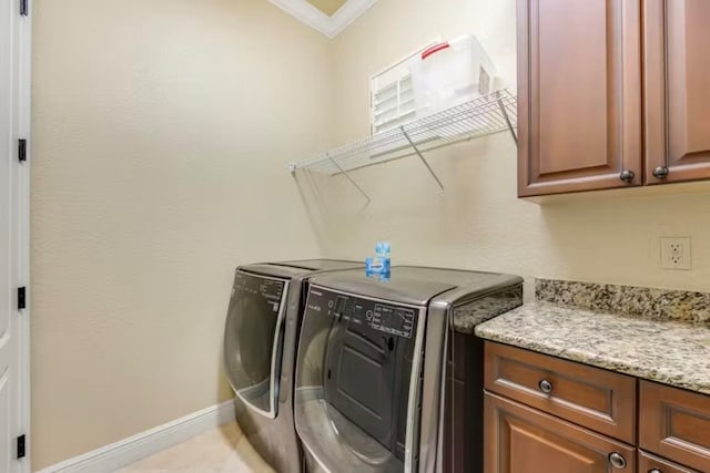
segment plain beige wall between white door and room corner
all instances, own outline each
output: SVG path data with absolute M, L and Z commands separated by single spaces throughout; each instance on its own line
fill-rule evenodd
M 233 268 L 318 253 L 327 41 L 264 0 L 37 0 L 32 460 L 230 398 Z

